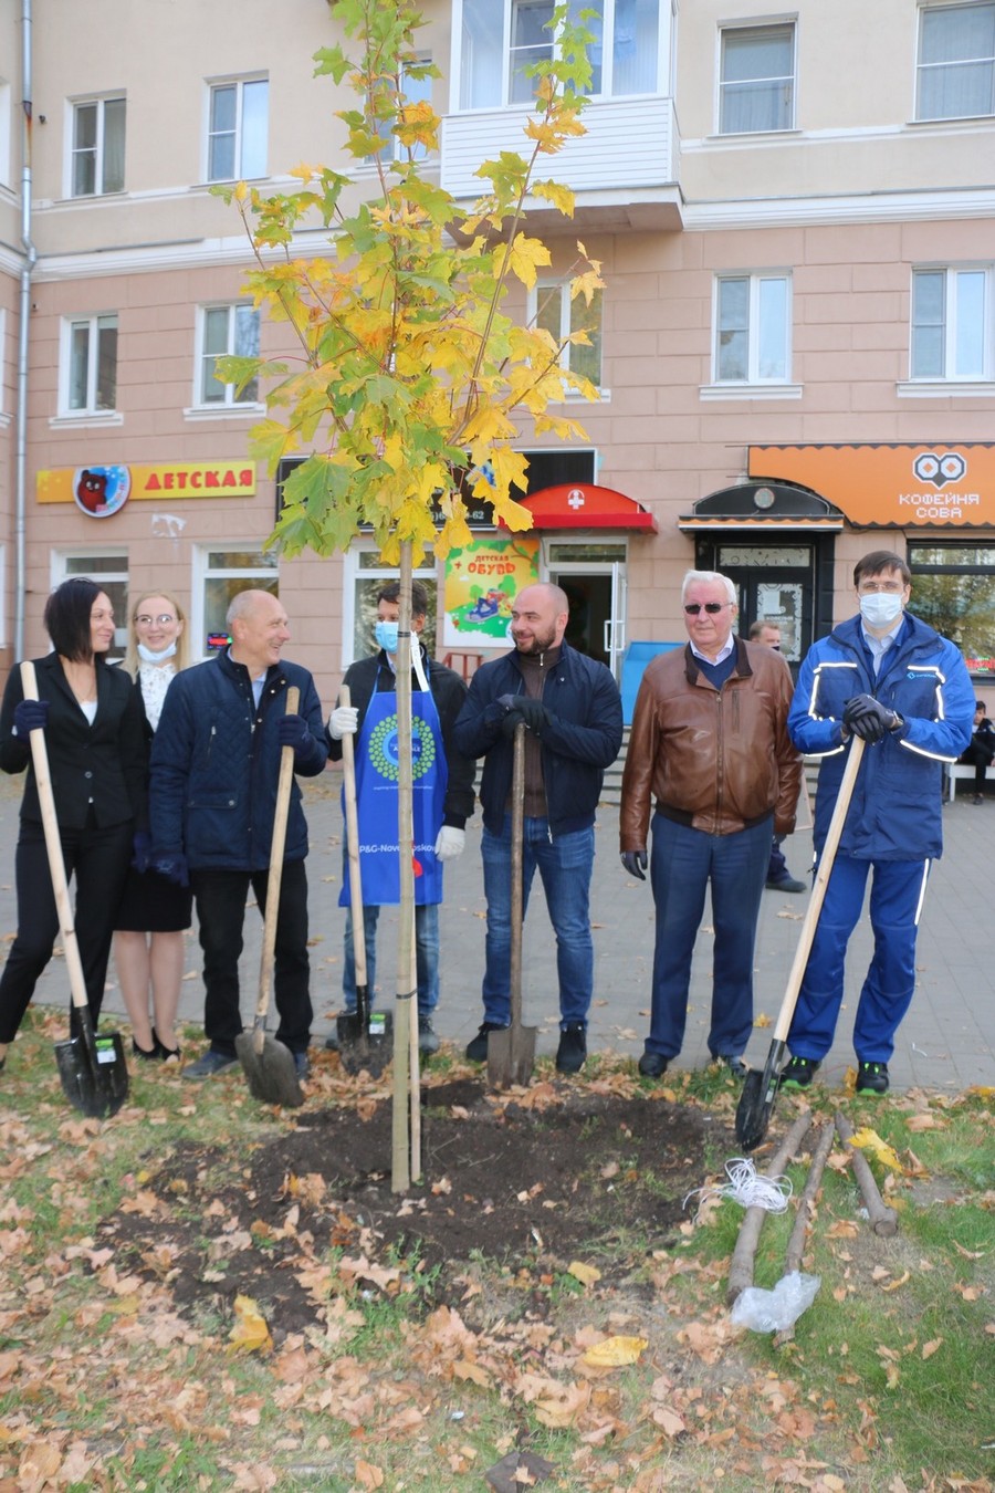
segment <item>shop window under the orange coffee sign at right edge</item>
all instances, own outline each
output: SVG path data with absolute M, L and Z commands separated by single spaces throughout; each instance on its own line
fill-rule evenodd
M 908 611 L 958 645 L 979 679 L 995 679 L 995 545 L 908 543 Z

